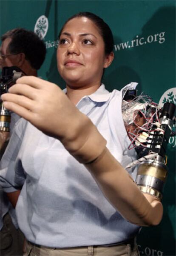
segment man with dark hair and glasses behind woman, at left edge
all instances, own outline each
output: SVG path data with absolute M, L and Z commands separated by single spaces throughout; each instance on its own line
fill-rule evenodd
M 1 37 L 0 68 L 16 66 L 23 75 L 37 76 L 45 60 L 45 43 L 33 31 L 14 28 Z M 0 159 L 15 123 L 20 117 L 11 113 L 10 133 L 0 131 Z M 23 255 L 23 234 L 20 232 L 15 210 L 0 189 L 0 255 Z

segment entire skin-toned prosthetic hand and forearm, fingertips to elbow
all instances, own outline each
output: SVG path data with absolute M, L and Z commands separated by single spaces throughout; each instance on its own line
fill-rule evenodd
M 57 85 L 37 77 L 22 77 L 8 94 L 3 94 L 2 100 L 7 109 L 59 139 L 91 172 L 104 195 L 125 219 L 144 226 L 161 221 L 161 202 L 139 191 L 105 147 L 105 139 L 91 120 L 75 108 Z

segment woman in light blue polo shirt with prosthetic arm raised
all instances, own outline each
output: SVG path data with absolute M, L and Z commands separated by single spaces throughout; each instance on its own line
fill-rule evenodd
M 162 205 L 147 200 L 122 168 L 135 152 L 127 150 L 121 92 L 109 93 L 101 85 L 114 58 L 111 30 L 95 14 L 80 13 L 65 23 L 59 41 L 57 66 L 65 93 L 50 82 L 22 77 L 2 97 L 6 108 L 47 134 L 22 119 L 1 163 L 11 202 L 20 193 L 16 212 L 27 239 L 24 255 L 138 255 L 139 225 L 159 222 L 150 222 L 143 206 L 156 206 L 161 219 Z M 126 221 L 99 187 L 138 225 Z

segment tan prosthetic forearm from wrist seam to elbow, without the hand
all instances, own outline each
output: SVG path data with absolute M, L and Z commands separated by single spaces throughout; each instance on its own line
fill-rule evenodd
M 154 196 L 142 194 L 107 148 L 94 162 L 85 166 L 106 198 L 125 219 L 142 226 L 159 224 L 163 213 L 161 202 Z

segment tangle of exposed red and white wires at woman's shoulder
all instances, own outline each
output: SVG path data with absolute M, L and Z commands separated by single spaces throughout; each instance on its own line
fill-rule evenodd
M 133 100 L 122 102 L 122 114 L 131 144 L 128 149 L 147 147 L 147 139 L 151 132 L 161 131 L 159 105 L 148 96 L 141 94 Z M 145 136 L 143 136 L 145 133 Z M 142 134 L 142 135 L 141 135 Z

